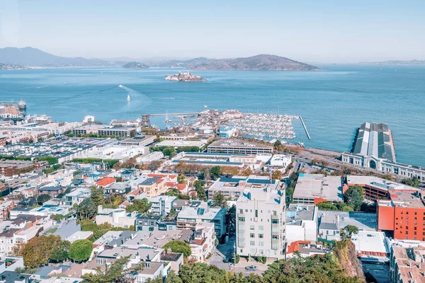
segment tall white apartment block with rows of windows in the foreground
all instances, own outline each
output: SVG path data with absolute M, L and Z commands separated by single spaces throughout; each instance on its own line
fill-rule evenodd
M 237 254 L 285 258 L 285 191 L 250 187 L 236 202 Z

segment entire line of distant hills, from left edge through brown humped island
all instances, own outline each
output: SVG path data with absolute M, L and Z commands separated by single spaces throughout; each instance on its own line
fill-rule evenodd
M 209 59 L 199 57 L 195 59 L 162 60 L 157 62 L 128 62 L 130 58 L 86 59 L 83 57 L 60 57 L 49 54 L 33 47 L 6 47 L 0 48 L 0 62 L 27 67 L 84 67 L 84 66 L 121 66 L 123 68 L 146 69 L 149 67 L 177 67 L 192 70 L 242 70 L 242 71 L 315 71 L 319 69 L 309 64 L 297 62 L 276 55 L 260 54 L 253 57 L 236 59 Z M 123 61 L 120 61 L 122 59 Z

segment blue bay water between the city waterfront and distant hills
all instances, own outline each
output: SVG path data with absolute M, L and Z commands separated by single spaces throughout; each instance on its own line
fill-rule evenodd
M 361 122 L 385 122 L 397 161 L 425 166 L 425 67 L 329 65 L 321 71 L 194 71 L 208 81 L 165 81 L 176 69 L 30 69 L 0 71 L 0 100 L 23 98 L 28 113 L 60 121 L 136 119 L 142 113 L 237 109 L 301 115 L 306 146 L 350 149 Z M 123 88 L 118 87 L 123 85 Z M 130 94 L 131 100 L 127 101 Z M 157 125 L 164 117 L 153 122 Z

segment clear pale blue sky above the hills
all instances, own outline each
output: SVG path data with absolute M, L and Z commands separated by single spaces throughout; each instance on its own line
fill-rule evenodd
M 87 58 L 425 59 L 425 1 L 0 1 L 0 47 L 27 46 Z

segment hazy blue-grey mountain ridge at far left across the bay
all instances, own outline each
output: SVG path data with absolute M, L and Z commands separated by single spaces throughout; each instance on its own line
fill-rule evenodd
M 86 59 L 83 57 L 60 57 L 38 50 L 33 47 L 6 47 L 0 48 L 0 62 L 4 64 L 18 64 L 38 67 L 72 67 L 72 66 L 99 66 L 110 63 L 101 59 Z

